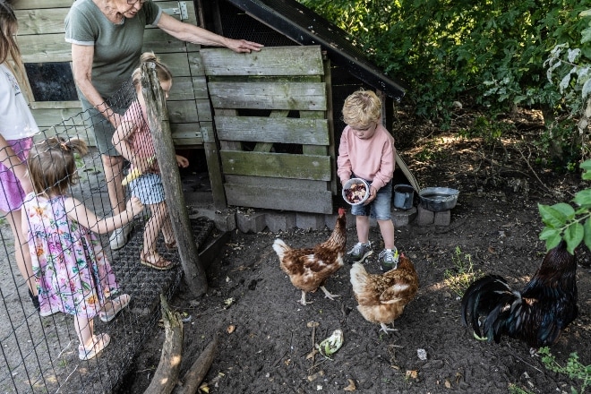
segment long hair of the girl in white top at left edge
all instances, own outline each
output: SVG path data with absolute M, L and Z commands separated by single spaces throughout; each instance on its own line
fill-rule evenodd
M 15 39 L 18 28 L 13 7 L 8 2 L 0 0 L 0 64 L 6 65 L 19 81 L 19 85 L 25 86 L 27 73 Z

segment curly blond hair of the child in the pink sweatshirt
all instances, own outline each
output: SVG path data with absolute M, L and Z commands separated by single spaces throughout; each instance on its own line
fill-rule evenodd
M 357 90 L 345 99 L 343 121 L 363 130 L 381 119 L 381 99 L 372 90 Z

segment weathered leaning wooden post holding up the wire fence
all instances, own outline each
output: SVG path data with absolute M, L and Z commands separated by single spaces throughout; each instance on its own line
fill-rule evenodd
M 199 261 L 198 246 L 193 240 L 189 214 L 184 203 L 181 176 L 176 164 L 175 146 L 168 123 L 167 102 L 152 63 L 141 64 L 141 93 L 146 101 L 150 132 L 156 150 L 158 168 L 162 176 L 167 209 L 175 232 L 178 252 L 184 270 L 184 279 L 191 293 L 207 293 L 207 277 Z

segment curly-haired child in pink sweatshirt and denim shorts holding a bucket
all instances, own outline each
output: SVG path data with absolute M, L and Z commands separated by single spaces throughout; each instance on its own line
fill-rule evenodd
M 354 205 L 358 242 L 348 254 L 348 261 L 363 262 L 373 253 L 369 241 L 370 215 L 380 226 L 384 250 L 380 253 L 381 270 L 395 269 L 398 250 L 394 246 L 394 223 L 391 219 L 392 176 L 394 175 L 394 138 L 381 125 L 381 99 L 371 90 L 357 90 L 345 99 L 343 120 L 347 124 L 338 146 L 337 174 L 341 184 L 350 178 L 365 179 L 370 196 L 364 205 Z

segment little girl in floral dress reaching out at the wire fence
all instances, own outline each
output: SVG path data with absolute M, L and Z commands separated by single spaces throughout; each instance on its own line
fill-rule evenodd
M 29 242 L 41 309 L 73 314 L 81 360 L 94 357 L 110 341 L 107 334 L 94 335 L 94 316 L 112 321 L 131 298 L 115 296 L 115 275 L 92 232 L 107 234 L 143 210 L 141 201 L 132 198 L 123 212 L 99 219 L 66 194 L 77 179 L 74 153 L 86 151 L 81 140 L 53 137 L 35 144 L 29 157 L 34 192 L 22 204 L 22 232 Z

